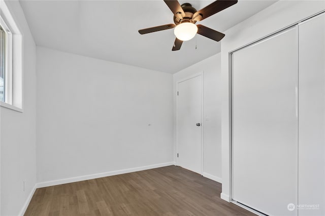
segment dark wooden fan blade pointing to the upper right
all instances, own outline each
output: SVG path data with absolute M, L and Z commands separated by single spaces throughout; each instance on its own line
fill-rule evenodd
M 196 12 L 193 15 L 193 19 L 196 21 L 201 21 L 204 20 L 205 18 L 210 17 L 213 14 L 216 14 L 226 8 L 229 8 L 232 5 L 235 5 L 238 1 L 222 1 L 222 0 L 217 0 L 207 7 L 201 9 L 200 11 Z M 200 16 L 201 15 L 201 16 Z

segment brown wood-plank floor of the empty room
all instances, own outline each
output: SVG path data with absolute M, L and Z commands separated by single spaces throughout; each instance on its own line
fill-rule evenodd
M 221 184 L 178 166 L 39 188 L 25 215 L 255 215 Z

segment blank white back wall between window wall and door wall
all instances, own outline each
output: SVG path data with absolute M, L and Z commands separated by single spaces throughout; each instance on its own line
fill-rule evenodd
M 38 182 L 173 162 L 171 74 L 37 47 L 37 78 Z

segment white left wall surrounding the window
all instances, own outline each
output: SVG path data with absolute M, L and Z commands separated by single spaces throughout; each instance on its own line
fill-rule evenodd
M 23 34 L 24 112 L 1 107 L 1 215 L 18 215 L 36 184 L 36 46 L 19 2 L 6 4 Z

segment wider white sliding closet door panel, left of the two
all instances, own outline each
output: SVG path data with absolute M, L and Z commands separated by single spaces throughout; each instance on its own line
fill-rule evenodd
M 233 199 L 269 215 L 297 215 L 298 32 L 233 53 Z

